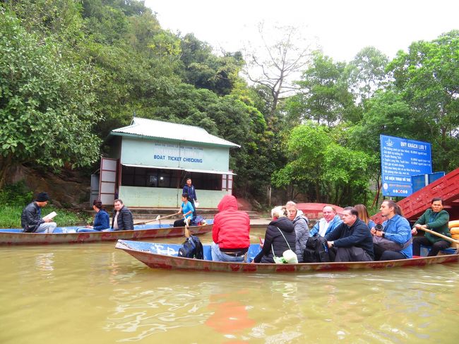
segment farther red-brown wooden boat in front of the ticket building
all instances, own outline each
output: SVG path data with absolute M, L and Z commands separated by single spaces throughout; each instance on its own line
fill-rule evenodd
M 207 225 L 191 226 L 189 230 L 193 235 L 211 232 L 213 220 L 207 220 Z M 151 239 L 158 237 L 184 236 L 185 227 L 172 227 L 172 225 L 134 225 L 134 230 L 87 230 L 82 227 L 57 227 L 53 233 L 25 233 L 22 229 L 0 229 L 1 245 L 22 244 L 80 244 L 83 242 L 106 242 L 118 239 Z

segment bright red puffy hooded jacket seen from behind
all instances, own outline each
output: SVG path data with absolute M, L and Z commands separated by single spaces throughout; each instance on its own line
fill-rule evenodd
M 237 210 L 234 196 L 223 196 L 218 203 L 219 213 L 213 219 L 212 238 L 220 249 L 246 249 L 250 246 L 250 220 L 244 211 Z

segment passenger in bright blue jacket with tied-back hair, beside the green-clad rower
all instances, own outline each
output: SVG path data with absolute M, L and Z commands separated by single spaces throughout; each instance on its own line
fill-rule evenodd
M 381 203 L 381 215 L 387 218 L 381 230 L 371 228 L 374 256 L 378 261 L 412 258 L 411 228 L 394 201 Z

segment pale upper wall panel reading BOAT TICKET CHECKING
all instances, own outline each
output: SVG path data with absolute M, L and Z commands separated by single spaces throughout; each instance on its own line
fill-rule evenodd
M 229 148 L 124 137 L 121 164 L 227 171 Z

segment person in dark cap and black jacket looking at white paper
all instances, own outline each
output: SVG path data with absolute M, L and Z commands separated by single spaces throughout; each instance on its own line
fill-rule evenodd
M 42 218 L 42 208 L 48 204 L 49 196 L 46 192 L 40 192 L 35 201 L 29 203 L 20 215 L 20 225 L 23 232 L 52 233 L 56 223 L 46 216 Z

